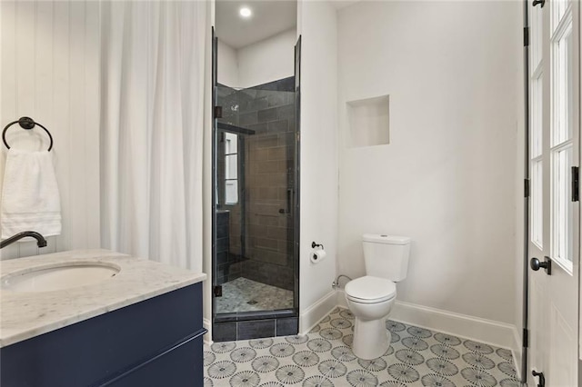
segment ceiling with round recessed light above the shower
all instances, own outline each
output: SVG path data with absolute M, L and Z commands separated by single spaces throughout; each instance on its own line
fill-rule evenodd
M 239 15 L 242 6 L 253 12 Z M 296 27 L 297 2 L 294 0 L 216 0 L 216 36 L 238 49 Z

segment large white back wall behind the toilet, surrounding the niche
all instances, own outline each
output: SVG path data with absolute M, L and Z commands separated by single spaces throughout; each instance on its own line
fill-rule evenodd
M 519 2 L 338 11 L 342 138 L 346 101 L 391 104 L 391 144 L 340 145 L 338 273 L 364 274 L 362 233 L 408 235 L 399 300 L 515 323 L 521 25 Z

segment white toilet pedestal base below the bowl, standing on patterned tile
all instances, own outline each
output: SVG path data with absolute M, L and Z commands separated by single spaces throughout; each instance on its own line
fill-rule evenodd
M 378 338 L 386 337 L 386 340 Z M 356 317 L 352 352 L 364 360 L 373 360 L 386 353 L 390 347 L 392 333 L 386 329 L 386 317 L 363 321 Z

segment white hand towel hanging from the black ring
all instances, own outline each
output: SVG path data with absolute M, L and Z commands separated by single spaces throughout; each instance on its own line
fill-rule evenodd
M 61 233 L 61 203 L 50 152 L 8 150 L 1 205 L 2 239 L 23 231 Z

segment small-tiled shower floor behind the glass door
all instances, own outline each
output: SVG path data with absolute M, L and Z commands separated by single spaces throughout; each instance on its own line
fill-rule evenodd
M 272 311 L 293 308 L 293 292 L 245 277 L 222 284 L 216 297 L 216 313 Z

